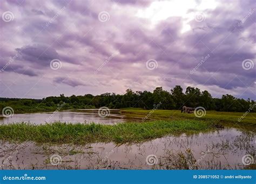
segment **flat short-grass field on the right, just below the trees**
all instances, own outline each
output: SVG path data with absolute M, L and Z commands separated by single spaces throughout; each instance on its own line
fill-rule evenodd
M 139 108 L 126 108 L 122 109 L 121 113 L 126 116 L 139 116 L 145 117 L 150 113 L 151 110 L 143 110 Z M 238 121 L 244 115 L 243 112 L 217 112 L 217 111 L 206 111 L 206 115 L 203 117 L 196 117 L 194 114 L 185 114 L 180 112 L 180 110 L 155 110 L 149 118 L 152 119 L 163 119 L 163 120 L 184 120 L 184 119 L 201 119 L 201 120 L 211 120 L 225 125 L 230 126 L 241 126 L 242 128 L 248 128 L 251 130 L 256 130 L 256 113 L 248 113 L 244 119 Z

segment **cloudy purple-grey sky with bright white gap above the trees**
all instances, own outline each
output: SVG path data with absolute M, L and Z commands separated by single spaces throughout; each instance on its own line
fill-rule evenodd
M 1 0 L 0 15 L 0 97 L 180 85 L 256 99 L 254 0 Z

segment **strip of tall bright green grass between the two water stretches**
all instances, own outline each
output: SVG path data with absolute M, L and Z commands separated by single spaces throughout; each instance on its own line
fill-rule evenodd
M 52 124 L 33 125 L 17 123 L 0 125 L 0 139 L 8 141 L 36 141 L 37 143 L 139 143 L 179 133 L 193 133 L 213 129 L 212 122 L 153 121 L 144 123 Z

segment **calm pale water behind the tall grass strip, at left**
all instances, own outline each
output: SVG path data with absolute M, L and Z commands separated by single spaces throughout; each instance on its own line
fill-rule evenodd
M 12 117 L 0 118 L 0 124 L 9 124 L 14 122 L 30 122 L 33 124 L 44 124 L 46 122 L 70 122 L 70 123 L 87 123 L 95 122 L 102 124 L 115 124 L 127 121 L 142 121 L 142 118 L 127 117 L 120 114 L 120 110 L 111 109 L 109 116 L 100 117 L 98 109 L 78 109 L 78 110 L 64 110 L 56 114 L 53 112 L 37 112 L 14 114 Z

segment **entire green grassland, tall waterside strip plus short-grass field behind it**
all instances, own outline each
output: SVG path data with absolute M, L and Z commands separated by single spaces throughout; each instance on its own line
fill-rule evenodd
M 194 114 L 181 114 L 179 110 L 143 110 L 137 108 L 122 109 L 127 116 L 156 119 L 151 122 L 128 122 L 115 125 L 103 124 L 69 124 L 55 122 L 34 125 L 29 123 L 13 123 L 0 125 L 0 139 L 8 141 L 36 141 L 37 143 L 73 143 L 86 144 L 97 142 L 113 142 L 117 144 L 139 143 L 167 135 L 194 133 L 211 130 L 216 124 L 230 125 L 256 131 L 256 114 L 249 113 L 238 122 L 241 112 L 207 111 L 198 118 Z

